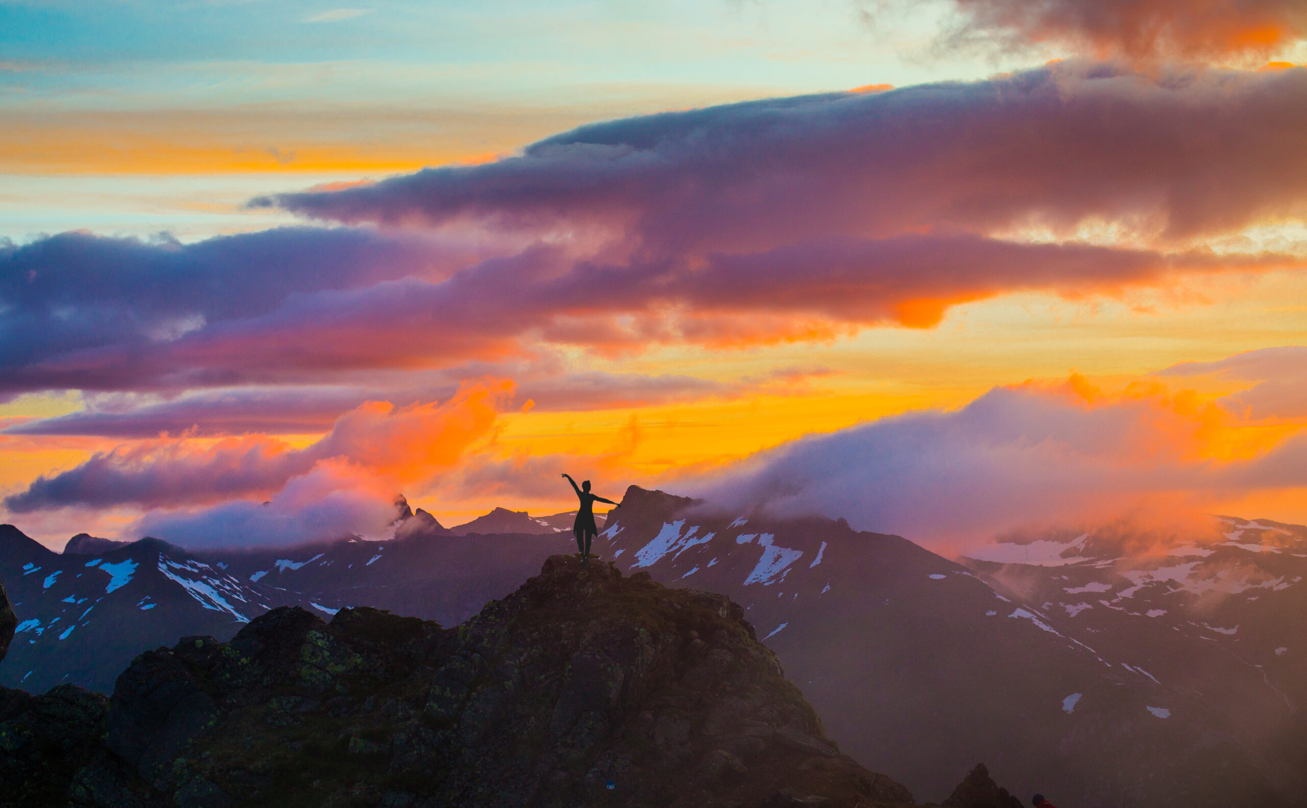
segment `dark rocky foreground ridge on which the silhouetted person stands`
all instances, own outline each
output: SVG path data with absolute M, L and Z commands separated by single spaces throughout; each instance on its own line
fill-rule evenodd
M 0 805 L 911 805 L 741 608 L 554 556 L 457 626 L 278 608 L 106 699 L 0 689 Z M 1018 804 L 978 767 L 946 805 Z

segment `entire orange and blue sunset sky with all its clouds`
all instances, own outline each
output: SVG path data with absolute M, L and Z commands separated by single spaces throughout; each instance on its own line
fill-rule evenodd
M 0 0 L 0 522 L 1307 522 L 1303 65 L 1300 0 Z

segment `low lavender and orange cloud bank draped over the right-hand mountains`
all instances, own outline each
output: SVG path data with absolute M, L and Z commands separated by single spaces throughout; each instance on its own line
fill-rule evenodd
M 950 545 L 1141 514 L 1183 522 L 1307 485 L 1307 434 L 1240 445 L 1248 425 L 1192 394 L 1145 384 L 1104 395 L 1073 377 L 802 438 L 678 488 L 741 513 L 843 516 Z

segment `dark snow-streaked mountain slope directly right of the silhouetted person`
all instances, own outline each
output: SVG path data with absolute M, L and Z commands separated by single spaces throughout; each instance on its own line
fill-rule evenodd
M 1055 603 L 898 536 L 860 533 L 827 519 L 720 514 L 639 489 L 627 492 L 597 544 L 627 571 L 744 604 L 842 749 L 893 773 L 914 794 L 942 798 L 957 778 L 953 769 L 976 760 L 1018 792 L 1057 794 L 1059 803 L 1085 808 L 1280 805 L 1295 804 L 1285 794 L 1302 794 L 1294 756 L 1307 747 L 1285 735 L 1299 731 L 1300 718 L 1282 715 L 1272 733 L 1249 726 L 1255 722 L 1234 723 L 1222 694 L 1178 676 L 1192 648 L 1175 646 L 1163 664 L 1137 639 L 1104 642 L 1106 628 L 1080 630 L 1090 612 L 1064 608 L 1061 600 L 1080 603 L 1072 595 L 1102 586 L 1094 577 L 1110 570 L 1091 558 L 1048 570 L 1067 577 Z M 1200 561 L 1223 564 L 1222 553 Z M 1226 569 L 1218 579 L 1236 575 Z M 1238 586 L 1252 587 L 1246 591 L 1253 596 L 1293 591 L 1276 590 L 1293 575 L 1274 569 L 1239 573 L 1247 583 Z M 1161 598 L 1167 588 L 1161 579 L 1174 575 L 1163 570 L 1120 571 L 1140 587 L 1125 592 L 1131 611 L 1176 608 L 1150 603 L 1149 591 L 1158 588 Z M 1098 612 L 1120 614 L 1107 607 Z M 1226 622 L 1212 620 L 1227 630 L 1239 625 L 1233 613 L 1222 613 Z M 1272 622 L 1285 625 L 1278 617 Z M 1300 621 L 1285 628 L 1307 639 Z M 1195 625 L 1187 630 L 1202 635 Z M 1247 624 L 1239 631 L 1251 641 Z M 1238 635 L 1216 633 L 1221 643 Z M 1260 679 L 1260 669 L 1218 650 L 1225 645 L 1196 642 L 1212 646 L 1195 659 L 1210 663 L 1214 676 Z M 1277 634 L 1274 647 L 1286 645 L 1293 639 Z M 1266 652 L 1274 655 L 1270 646 Z M 1289 655 L 1276 659 L 1283 664 Z M 1274 697 L 1269 686 L 1264 690 Z M 1272 699 L 1247 703 L 1261 716 Z M 1285 701 L 1278 709 L 1289 713 Z

